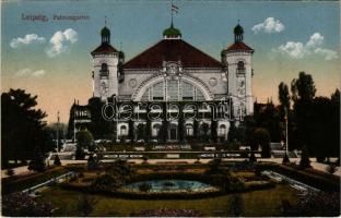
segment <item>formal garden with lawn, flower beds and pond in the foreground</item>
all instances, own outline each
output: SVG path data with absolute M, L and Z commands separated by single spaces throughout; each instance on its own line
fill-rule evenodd
M 307 189 L 268 177 L 267 170 L 290 175 L 307 184 Z M 3 215 L 195 217 L 337 216 L 340 213 L 338 177 L 316 174 L 313 169 L 295 169 L 291 165 L 248 160 L 137 165 L 91 159 L 85 166 L 56 167 L 27 178 L 22 184 L 33 185 L 42 181 L 40 177 L 56 178 L 66 171 L 74 173 L 43 189 L 25 193 L 16 192 L 22 190 L 20 186 L 10 190 L 11 193 L 3 195 Z M 15 179 L 3 186 L 4 191 L 11 183 Z

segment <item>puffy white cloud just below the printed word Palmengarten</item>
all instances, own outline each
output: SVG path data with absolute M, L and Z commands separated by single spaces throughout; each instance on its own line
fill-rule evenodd
M 78 41 L 78 33 L 72 28 L 66 31 L 58 31 L 49 40 L 49 47 L 46 49 L 46 53 L 52 58 L 68 50 L 71 44 Z

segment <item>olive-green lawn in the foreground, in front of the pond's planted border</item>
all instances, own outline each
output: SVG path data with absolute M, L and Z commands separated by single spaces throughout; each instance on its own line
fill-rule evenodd
M 296 192 L 287 185 L 240 194 L 242 216 L 279 216 L 282 199 L 295 202 Z M 59 187 L 46 190 L 38 198 L 51 202 L 58 209 L 54 216 L 80 216 L 75 210 L 78 198 L 82 193 L 66 191 Z M 190 208 L 201 211 L 204 216 L 234 216 L 232 194 L 202 199 L 124 199 L 102 195 L 92 195 L 98 201 L 91 216 L 129 216 L 130 213 L 151 208 Z

